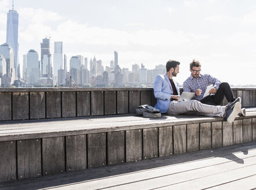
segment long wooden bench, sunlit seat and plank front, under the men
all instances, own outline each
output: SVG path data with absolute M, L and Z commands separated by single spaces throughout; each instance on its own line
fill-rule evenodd
M 0 181 L 110 166 L 256 140 L 255 108 L 222 118 L 134 114 L 0 122 Z

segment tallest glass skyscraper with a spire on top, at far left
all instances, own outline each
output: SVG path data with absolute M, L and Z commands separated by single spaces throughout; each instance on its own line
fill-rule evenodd
M 18 65 L 18 26 L 19 26 L 19 13 L 16 10 L 9 10 L 7 13 L 7 28 L 6 28 L 6 43 L 8 43 L 15 56 L 15 78 L 17 79 L 17 65 Z

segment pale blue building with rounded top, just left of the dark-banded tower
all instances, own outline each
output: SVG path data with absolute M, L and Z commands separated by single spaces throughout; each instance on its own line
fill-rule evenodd
M 40 83 L 40 70 L 38 53 L 31 49 L 27 53 L 27 70 L 26 83 L 29 85 L 36 85 Z

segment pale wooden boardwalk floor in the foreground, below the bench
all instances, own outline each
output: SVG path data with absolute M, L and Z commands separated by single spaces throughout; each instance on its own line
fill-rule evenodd
M 0 183 L 0 189 L 254 189 L 256 142 Z

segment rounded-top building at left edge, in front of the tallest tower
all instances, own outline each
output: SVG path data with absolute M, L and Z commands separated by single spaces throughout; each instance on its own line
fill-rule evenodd
M 0 54 L 5 57 L 6 60 L 6 76 L 7 81 L 2 85 L 12 85 L 15 81 L 15 57 L 13 54 L 13 49 L 8 45 L 8 43 L 3 43 L 0 46 Z

